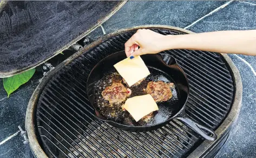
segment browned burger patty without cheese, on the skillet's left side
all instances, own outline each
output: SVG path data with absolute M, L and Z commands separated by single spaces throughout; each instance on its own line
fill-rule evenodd
M 109 87 L 102 91 L 104 100 L 107 100 L 110 104 L 120 104 L 130 96 L 132 91 L 129 88 L 125 88 L 122 83 L 113 83 Z

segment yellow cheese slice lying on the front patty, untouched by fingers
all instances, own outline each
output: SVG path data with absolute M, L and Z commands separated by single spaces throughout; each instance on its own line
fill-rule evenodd
M 123 108 L 133 116 L 136 122 L 151 112 L 158 110 L 157 104 L 150 94 L 128 98 Z

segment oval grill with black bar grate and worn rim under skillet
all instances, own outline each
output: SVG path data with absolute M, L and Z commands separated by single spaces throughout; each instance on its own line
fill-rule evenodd
M 180 28 L 147 25 L 106 35 L 50 71 L 32 95 L 26 126 L 36 157 L 204 157 L 213 156 L 227 139 L 241 106 L 241 79 L 225 54 L 168 50 L 185 71 L 191 92 L 189 118 L 215 130 L 206 141 L 178 120 L 147 133 L 111 127 L 94 116 L 86 94 L 90 70 L 102 58 L 124 50 L 137 29 L 163 35 L 192 34 Z

